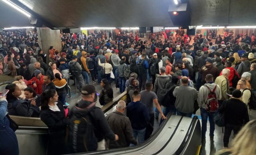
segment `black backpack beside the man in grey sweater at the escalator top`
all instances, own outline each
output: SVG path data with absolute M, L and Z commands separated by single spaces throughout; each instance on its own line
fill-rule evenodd
M 164 88 L 163 90 L 160 91 L 160 94 L 157 95 L 157 100 L 159 102 L 159 104 L 167 107 L 169 105 L 174 105 L 176 100 L 173 100 L 171 98 L 171 94 L 173 93 L 174 88 L 176 87 L 176 85 L 172 85 L 169 88 Z

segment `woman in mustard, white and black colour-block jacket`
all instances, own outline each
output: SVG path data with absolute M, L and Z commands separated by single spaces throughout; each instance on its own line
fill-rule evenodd
M 53 80 L 53 83 L 56 87 L 56 91 L 57 91 L 57 94 L 59 96 L 59 100 L 61 101 L 62 105 L 65 105 L 66 104 L 66 89 L 65 89 L 65 86 L 66 86 L 67 82 L 64 78 L 61 79 L 60 73 L 55 73 L 54 77 L 55 77 L 55 79 Z

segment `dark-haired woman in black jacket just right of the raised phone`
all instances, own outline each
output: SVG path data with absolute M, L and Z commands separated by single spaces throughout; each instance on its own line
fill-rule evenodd
M 5 89 L 9 90 L 6 99 L 8 101 L 8 113 L 15 116 L 39 117 L 40 109 L 32 99 L 24 100 L 20 98 L 20 88 L 16 84 L 8 84 Z

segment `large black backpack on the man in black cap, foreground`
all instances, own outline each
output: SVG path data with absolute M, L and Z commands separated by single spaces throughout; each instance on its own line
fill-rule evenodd
M 81 102 L 78 101 L 78 102 Z M 91 103 L 88 107 L 91 107 Z M 93 105 L 92 105 L 93 106 Z M 84 112 L 81 113 L 72 113 L 69 117 L 69 135 L 68 135 L 68 144 L 70 147 L 70 153 L 80 153 L 88 151 L 96 151 L 98 140 L 94 134 L 94 128 L 92 125 L 92 111 L 93 108 L 78 108 Z

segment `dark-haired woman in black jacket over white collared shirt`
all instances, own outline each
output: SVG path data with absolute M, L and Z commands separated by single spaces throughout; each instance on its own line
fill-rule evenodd
M 63 105 L 58 102 L 58 94 L 54 89 L 48 89 L 41 95 L 41 120 L 48 126 L 49 144 L 47 154 L 68 154 L 65 144 L 66 126 Z

